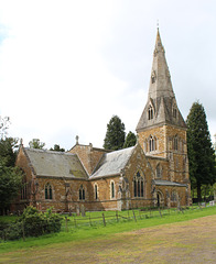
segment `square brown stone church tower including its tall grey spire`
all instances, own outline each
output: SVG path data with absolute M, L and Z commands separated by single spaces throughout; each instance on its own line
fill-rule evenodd
M 177 107 L 159 29 L 148 100 L 137 125 L 137 133 L 145 155 L 169 162 L 169 180 L 187 182 L 186 124 Z

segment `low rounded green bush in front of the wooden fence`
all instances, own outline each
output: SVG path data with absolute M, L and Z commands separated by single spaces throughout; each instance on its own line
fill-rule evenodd
M 4 237 L 7 240 L 17 240 L 23 235 L 39 237 L 60 232 L 61 226 L 62 218 L 57 213 L 52 213 L 52 208 L 42 213 L 34 207 L 28 207 L 18 221 L 4 230 Z

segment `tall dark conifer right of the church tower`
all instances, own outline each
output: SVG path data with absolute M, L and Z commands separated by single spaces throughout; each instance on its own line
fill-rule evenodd
M 187 152 L 190 163 L 190 178 L 192 189 L 197 189 L 201 201 L 202 185 L 213 185 L 216 182 L 215 152 L 204 107 L 194 102 L 186 120 L 187 124 Z

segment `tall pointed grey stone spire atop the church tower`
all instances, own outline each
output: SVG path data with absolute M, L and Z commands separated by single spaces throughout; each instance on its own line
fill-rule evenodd
M 149 112 L 150 108 L 153 111 L 152 114 Z M 186 128 L 176 105 L 171 75 L 165 59 L 165 51 L 158 29 L 148 101 L 137 125 L 137 132 L 161 123 L 170 123 Z

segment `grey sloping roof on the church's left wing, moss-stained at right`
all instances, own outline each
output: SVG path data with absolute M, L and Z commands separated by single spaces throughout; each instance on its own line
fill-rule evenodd
M 76 154 L 29 147 L 24 152 L 39 176 L 88 178 Z

